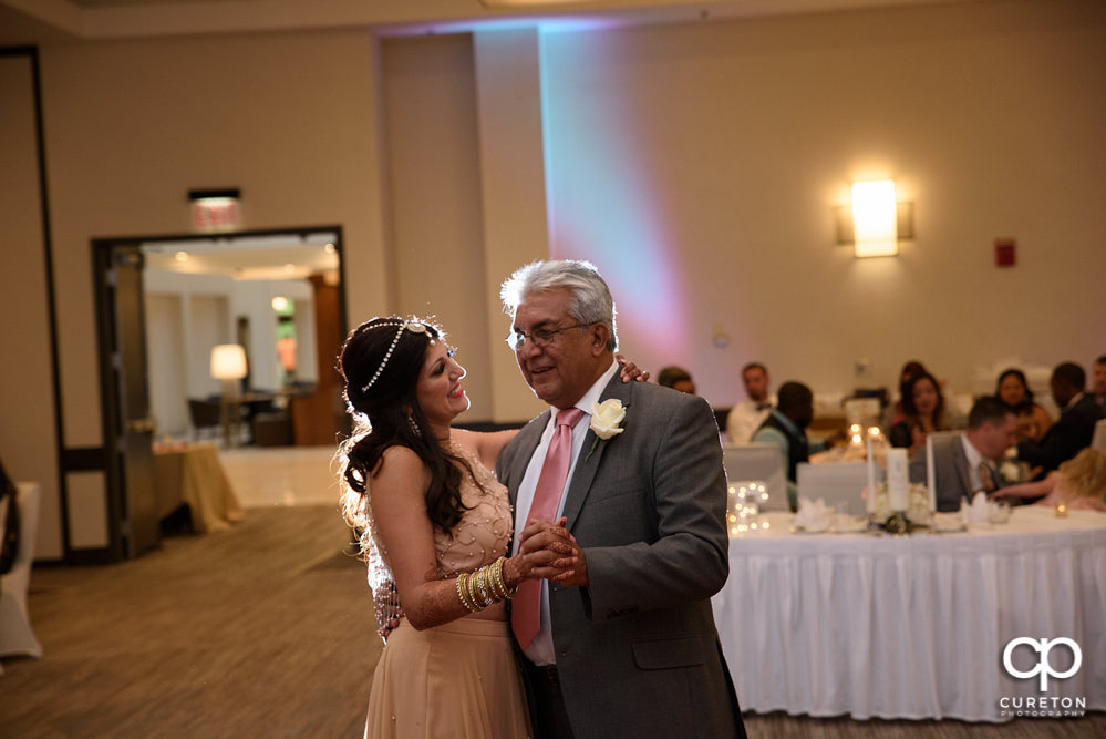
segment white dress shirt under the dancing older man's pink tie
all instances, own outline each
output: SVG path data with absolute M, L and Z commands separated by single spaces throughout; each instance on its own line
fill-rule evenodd
M 565 509 L 565 492 L 568 490 L 568 485 L 572 481 L 572 474 L 576 472 L 576 462 L 580 456 L 580 449 L 583 447 L 583 438 L 588 435 L 588 427 L 591 423 L 591 404 L 599 402 L 599 397 L 602 396 L 603 388 L 607 387 L 607 383 L 611 381 L 617 371 L 618 362 L 611 362 L 610 368 L 602 373 L 602 377 L 596 380 L 595 384 L 573 406 L 573 408 L 579 408 L 583 411 L 583 415 L 580 418 L 579 423 L 576 424 L 576 428 L 572 429 L 572 461 L 568 468 L 568 478 L 565 480 L 565 490 L 561 491 L 560 502 L 557 504 L 558 519 Z M 546 429 L 541 432 L 541 441 L 538 442 L 537 449 L 534 450 L 530 463 L 526 468 L 526 474 L 523 475 L 523 482 L 518 485 L 518 496 L 515 500 L 515 544 L 511 547 L 511 554 L 518 554 L 518 535 L 526 527 L 526 519 L 530 513 L 530 504 L 534 503 L 534 490 L 538 486 L 538 478 L 541 476 L 541 468 L 546 463 L 546 452 L 549 451 L 549 442 L 552 441 L 554 432 L 557 430 L 558 409 L 550 408 L 549 410 L 551 411 L 549 422 L 546 423 Z M 530 647 L 526 650 L 526 656 L 535 665 L 557 664 L 557 653 L 554 649 L 552 643 L 551 618 L 549 616 L 549 581 L 546 579 L 541 581 L 541 628 L 538 630 L 538 635 L 534 637 L 534 642 L 530 643 Z

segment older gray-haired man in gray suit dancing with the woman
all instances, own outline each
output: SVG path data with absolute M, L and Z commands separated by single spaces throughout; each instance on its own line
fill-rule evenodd
M 616 377 L 614 304 L 585 261 L 503 285 L 507 343 L 549 409 L 499 456 L 515 548 L 549 526 L 571 573 L 511 626 L 539 737 L 745 736 L 711 596 L 728 574 L 722 449 L 702 398 Z

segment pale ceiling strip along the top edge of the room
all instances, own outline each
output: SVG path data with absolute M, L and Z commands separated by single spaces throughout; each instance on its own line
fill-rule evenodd
M 0 0 L 0 48 L 337 28 L 381 35 L 571 29 L 969 1 L 982 0 Z

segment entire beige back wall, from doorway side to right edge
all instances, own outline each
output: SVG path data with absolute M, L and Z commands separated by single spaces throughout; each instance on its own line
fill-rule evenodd
M 855 359 L 883 384 L 918 357 L 971 390 L 1002 358 L 1106 350 L 1103 3 L 475 38 L 44 47 L 65 445 L 103 442 L 90 239 L 186 232 L 197 187 L 240 187 L 244 228 L 340 224 L 351 325 L 438 314 L 472 370 L 472 420 L 536 407 L 495 292 L 546 244 L 604 270 L 628 353 L 688 365 L 716 406 L 742 397 L 751 358 L 834 392 L 860 383 Z M 513 157 L 520 179 L 503 176 Z M 914 202 L 917 238 L 857 260 L 834 245 L 833 206 L 872 176 Z M 992 266 L 1000 236 L 1019 240 L 1014 269 Z M 40 305 L 20 325 L 44 327 L 40 255 L 20 264 Z M 27 401 L 45 413 L 49 384 Z

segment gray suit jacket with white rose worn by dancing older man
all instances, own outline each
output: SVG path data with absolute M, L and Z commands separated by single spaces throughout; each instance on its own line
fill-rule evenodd
M 588 588 L 550 584 L 557 670 L 577 737 L 744 736 L 711 596 L 730 572 L 722 447 L 701 398 L 616 376 L 623 432 L 588 431 L 566 493 Z M 511 503 L 549 412 L 499 456 Z

